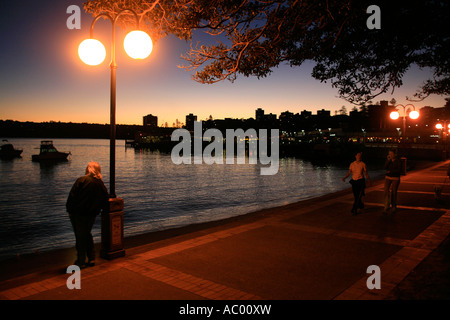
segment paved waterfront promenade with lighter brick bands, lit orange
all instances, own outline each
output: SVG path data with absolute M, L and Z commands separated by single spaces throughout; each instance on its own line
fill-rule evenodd
M 380 180 L 366 189 L 366 208 L 356 216 L 348 189 L 220 223 L 125 239 L 125 257 L 98 258 L 96 266 L 81 270 L 80 290 L 66 286 L 72 249 L 3 263 L 0 299 L 396 299 L 398 285 L 450 233 L 450 186 L 442 201 L 434 193 L 449 163 L 402 177 L 394 214 L 382 212 Z M 380 267 L 381 289 L 367 288 L 371 265 Z

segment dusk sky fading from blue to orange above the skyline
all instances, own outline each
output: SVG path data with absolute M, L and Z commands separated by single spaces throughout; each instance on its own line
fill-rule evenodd
M 82 9 L 84 1 L 2 1 L 0 4 L 0 119 L 18 121 L 109 122 L 111 25 L 101 20 L 95 35 L 106 47 L 107 58 L 96 67 L 78 58 L 78 45 L 89 37 L 92 17 L 83 12 L 81 30 L 69 30 L 69 5 Z M 82 9 L 83 11 L 83 9 Z M 180 55 L 189 43 L 175 37 L 154 43 L 146 60 L 133 60 L 123 49 L 125 33 L 117 29 L 117 123 L 142 124 L 147 114 L 158 116 L 158 124 L 171 126 L 194 113 L 199 120 L 249 118 L 255 109 L 266 113 L 289 110 L 297 113 L 335 110 L 353 105 L 337 97 L 329 83 L 311 77 L 312 64 L 301 68 L 280 66 L 267 78 L 239 76 L 205 85 L 191 80 L 191 73 L 178 68 Z M 408 103 L 429 72 L 413 68 L 404 86 L 394 94 L 376 99 Z M 416 107 L 442 107 L 444 97 L 431 96 Z

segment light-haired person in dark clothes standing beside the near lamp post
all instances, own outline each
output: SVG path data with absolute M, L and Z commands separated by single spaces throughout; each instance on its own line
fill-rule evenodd
M 100 211 L 108 210 L 108 198 L 108 191 L 102 181 L 101 167 L 97 162 L 91 161 L 86 167 L 85 175 L 75 181 L 66 202 L 75 233 L 77 260 L 74 264 L 80 268 L 95 264 L 91 231 Z

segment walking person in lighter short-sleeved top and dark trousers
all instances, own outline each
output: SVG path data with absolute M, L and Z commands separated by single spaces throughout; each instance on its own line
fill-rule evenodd
M 351 213 L 353 215 L 358 214 L 358 209 L 364 209 L 363 197 L 365 195 L 365 188 L 366 188 L 366 180 L 364 179 L 364 175 L 366 175 L 367 181 L 370 183 L 369 174 L 367 172 L 367 166 L 361 159 L 362 159 L 362 152 L 358 152 L 355 155 L 355 161 L 353 161 L 350 164 L 350 168 L 348 170 L 347 175 L 344 178 L 342 178 L 342 181 L 345 182 L 345 179 L 347 179 L 350 175 L 352 175 L 350 184 L 352 185 L 353 196 L 355 198 L 351 210 Z

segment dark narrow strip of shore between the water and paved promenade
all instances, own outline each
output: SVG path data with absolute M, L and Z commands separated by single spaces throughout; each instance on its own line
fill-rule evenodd
M 413 172 L 416 170 L 422 170 L 427 167 L 436 165 L 435 161 L 417 161 L 408 170 Z M 370 174 L 370 173 L 369 173 Z M 384 181 L 383 178 L 372 180 L 372 186 L 380 184 Z M 242 215 L 233 216 L 229 218 L 200 222 L 195 224 L 189 224 L 180 227 L 169 227 L 168 229 L 145 232 L 138 235 L 132 235 L 124 237 L 124 249 L 127 256 L 138 254 L 141 251 L 145 251 L 149 245 L 155 245 L 157 242 L 161 242 L 161 246 L 166 242 L 170 242 L 173 239 L 180 237 L 186 237 L 195 233 L 202 233 L 206 230 L 230 227 L 233 225 L 239 225 L 242 223 L 254 222 L 262 217 L 268 217 L 271 215 L 278 215 L 285 211 L 295 210 L 298 207 L 304 207 L 317 201 L 326 201 L 332 198 L 337 198 L 348 193 L 351 193 L 351 186 L 343 190 L 332 192 L 318 197 L 311 197 L 296 201 L 289 204 L 278 205 L 270 208 L 259 209 L 256 211 L 248 212 Z M 98 256 L 100 252 L 101 243 L 95 243 L 95 249 Z M 159 245 L 158 245 L 159 246 Z M 50 249 L 48 251 L 42 251 L 38 253 L 27 253 L 20 256 L 12 256 L 5 260 L 0 260 L 0 281 L 5 281 L 12 278 L 22 277 L 30 273 L 52 274 L 54 272 L 64 272 L 61 266 L 69 266 L 73 263 L 76 257 L 75 246 L 70 248 L 57 248 Z M 97 257 L 97 264 L 107 263 L 108 260 Z

